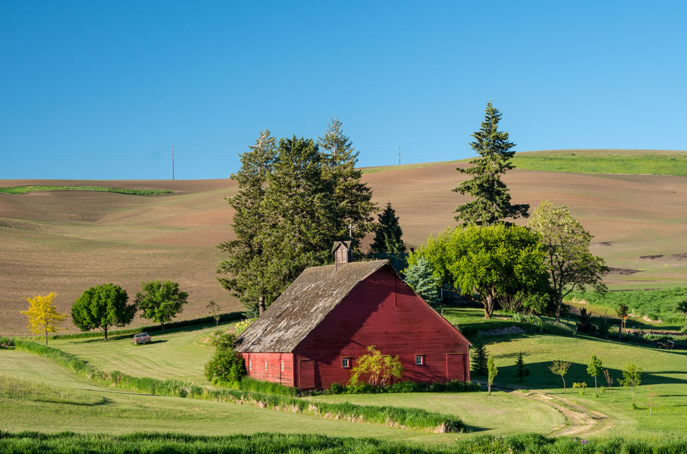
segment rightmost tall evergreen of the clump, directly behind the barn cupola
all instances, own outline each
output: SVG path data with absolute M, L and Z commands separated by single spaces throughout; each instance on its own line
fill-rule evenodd
M 318 146 L 325 154 L 324 173 L 333 179 L 336 217 L 339 225 L 336 232 L 339 239 L 354 240 L 354 251 L 357 244 L 373 229 L 372 189 L 361 182 L 362 172 L 355 166 L 359 152 L 355 151 L 349 137 L 343 133 L 342 123 L 332 118 L 323 137 L 318 139 Z

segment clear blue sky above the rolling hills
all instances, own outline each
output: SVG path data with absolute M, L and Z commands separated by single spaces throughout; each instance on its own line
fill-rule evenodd
M 0 178 L 224 178 L 265 128 L 359 164 L 687 149 L 684 1 L 0 1 Z

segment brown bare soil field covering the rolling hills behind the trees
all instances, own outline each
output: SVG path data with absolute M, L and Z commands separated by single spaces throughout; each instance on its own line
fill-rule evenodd
M 364 175 L 378 206 L 392 203 L 409 247 L 457 225 L 453 211 L 468 200 L 451 191 L 464 179 L 455 170 L 458 165 L 466 164 L 409 165 Z M 505 182 L 514 203 L 530 203 L 532 209 L 544 199 L 569 205 L 594 235 L 593 253 L 617 268 L 607 277 L 611 288 L 687 283 L 687 177 L 513 170 Z M 226 312 L 240 309 L 214 272 L 221 260 L 214 246 L 233 238 L 233 212 L 224 200 L 235 193 L 232 180 L 0 180 L 0 186 L 22 184 L 175 193 L 0 194 L 1 334 L 27 334 L 25 316 L 19 313 L 27 305 L 23 297 L 56 291 L 58 308 L 69 312 L 83 290 L 104 282 L 122 286 L 134 298 L 143 281 L 178 281 L 190 294 L 181 319 L 207 315 L 210 299 Z

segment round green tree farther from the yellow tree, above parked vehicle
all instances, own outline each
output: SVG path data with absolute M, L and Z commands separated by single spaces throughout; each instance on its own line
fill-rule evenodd
M 179 290 L 179 283 L 166 281 L 143 282 L 142 293 L 136 294 L 136 304 L 143 311 L 143 317 L 162 325 L 171 322 L 184 309 L 188 294 Z

